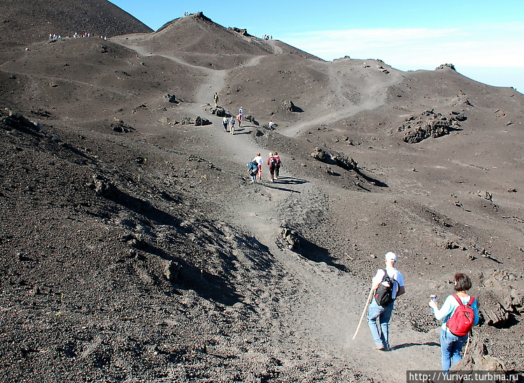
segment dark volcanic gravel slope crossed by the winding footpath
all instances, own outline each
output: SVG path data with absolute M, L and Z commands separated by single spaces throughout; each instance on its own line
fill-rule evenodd
M 483 304 L 473 349 L 522 370 L 507 345 L 523 338 L 523 96 L 448 67 L 322 62 L 250 37 L 224 58 L 220 40 L 246 36 L 202 16 L 36 43 L 0 65 L 1 102 L 40 127 L 3 112 L 3 380 L 403 382 L 439 368 L 427 296 L 450 293 L 458 270 Z M 205 52 L 187 48 L 199 30 Z M 183 50 L 154 50 L 161 34 Z M 234 135 L 214 92 L 251 116 Z M 180 123 L 196 116 L 212 124 Z M 405 141 L 434 125 L 448 134 Z M 281 178 L 264 167 L 250 184 L 246 162 L 269 151 Z M 407 293 L 380 354 L 365 323 L 350 337 L 386 251 Z

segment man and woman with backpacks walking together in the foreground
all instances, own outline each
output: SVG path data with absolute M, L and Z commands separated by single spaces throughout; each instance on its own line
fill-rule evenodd
M 375 349 L 390 351 L 389 323 L 395 300 L 406 292 L 404 277 L 395 268 L 397 255 L 385 254 L 385 268 L 379 269 L 371 281 L 367 307 L 367 323 L 375 342 Z M 462 347 L 468 340 L 472 326 L 479 323 L 479 304 L 467 291 L 472 281 L 461 272 L 455 274 L 453 281 L 455 293 L 448 295 L 444 304 L 437 305 L 437 296 L 432 295 L 429 306 L 435 319 L 443 321 L 440 330 L 442 370 L 448 371 L 451 365 L 462 359 Z M 364 312 L 365 312 L 364 308 Z M 364 313 L 362 313 L 362 316 Z M 357 329 L 358 330 L 358 329 Z M 355 333 L 356 336 L 356 333 Z M 355 337 L 353 337 L 355 339 Z

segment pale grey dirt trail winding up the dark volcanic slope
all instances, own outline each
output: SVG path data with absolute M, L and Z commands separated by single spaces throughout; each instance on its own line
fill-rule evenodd
M 145 52 L 132 45 L 128 45 L 128 48 L 142 55 Z M 164 57 L 181 62 L 176 57 Z M 260 58 L 254 57 L 246 65 L 256 64 Z M 197 116 L 202 115 L 203 105 L 213 102 L 214 92 L 220 94 L 225 86 L 227 71 L 202 67 L 194 69 L 206 74 L 206 78 L 197 90 L 195 102 L 185 103 L 180 107 Z M 337 76 L 332 73 L 332 81 L 337 82 Z M 376 90 L 371 89 L 362 104 L 336 111 L 331 117 L 332 120 L 344 118 L 381 102 L 383 95 L 377 95 Z M 257 146 L 252 134 L 249 134 L 255 128 L 254 125 L 244 124 L 232 135 L 223 132 L 221 118 L 210 115 L 205 117 L 213 125 L 199 130 L 201 139 L 208 142 L 208 145 L 215 146 L 210 150 L 223 153 L 222 158 L 225 161 L 238 164 L 239 176 L 247 175 L 245 164 L 257 152 L 261 152 L 262 157 L 267 157 L 267 150 Z M 284 134 L 292 135 L 291 132 L 315 123 L 318 121 L 291 125 Z M 288 153 L 280 154 L 283 159 L 288 157 Z M 358 279 L 335 267 L 315 263 L 276 245 L 275 239 L 282 218 L 281 204 L 292 204 L 296 200 L 295 203 L 299 203 L 304 210 L 320 209 L 318 201 L 321 199 L 312 196 L 323 193 L 333 199 L 339 196 L 350 198 L 352 196 L 347 195 L 350 192 L 326 189 L 314 180 L 308 180 L 307 183 L 286 182 L 286 177 L 295 178 L 295 174 L 289 173 L 285 166 L 282 169 L 282 181 L 269 183 L 267 167 L 264 165 L 263 169 L 265 181 L 248 186 L 267 202 L 252 204 L 248 196 L 239 198 L 233 218 L 243 230 L 248 230 L 261 244 L 267 246 L 274 256 L 274 283 L 263 286 L 264 293 L 257 301 L 257 309 L 262 314 L 262 321 L 265 321 L 262 326 L 268 328 L 271 352 L 285 359 L 285 355 L 289 356 L 295 349 L 313 350 L 323 354 L 327 360 L 339 359 L 342 364 L 347 363 L 350 367 L 384 382 L 404 382 L 406 370 L 439 368 L 440 350 L 434 344 L 437 335 L 400 328 L 395 323 L 395 316 L 390 327 L 393 351 L 385 353 L 372 348 L 374 344 L 365 318 L 356 340 L 351 339 L 369 293 L 368 279 L 371 275 Z M 406 295 L 409 295 L 409 286 L 406 290 Z

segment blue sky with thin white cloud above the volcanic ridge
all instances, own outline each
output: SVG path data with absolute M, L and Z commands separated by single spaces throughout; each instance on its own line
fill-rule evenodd
M 524 92 L 523 0 L 111 2 L 155 30 L 201 11 L 324 60 L 380 59 L 402 71 L 454 64 L 475 81 Z

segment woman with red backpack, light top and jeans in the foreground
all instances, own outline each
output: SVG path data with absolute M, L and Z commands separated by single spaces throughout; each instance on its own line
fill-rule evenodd
M 472 288 L 472 280 L 466 274 L 458 272 L 455 274 L 453 284 L 457 293 L 448 295 L 440 309 L 435 300 L 430 300 L 430 307 L 433 309 L 435 318 L 438 321 L 444 319 L 444 323 L 442 323 L 440 328 L 442 370 L 444 371 L 448 371 L 452 364 L 458 363 L 462 359 L 460 353 L 467 342 L 468 333 L 471 331 L 472 326 L 479 323 L 479 304 L 475 298 L 466 293 L 466 291 Z M 459 300 L 462 305 L 459 303 Z M 469 310 L 469 313 L 467 313 L 469 319 L 460 321 L 460 325 L 464 325 L 465 328 L 454 326 L 455 318 L 458 318 L 460 312 L 467 310 Z M 454 315 L 455 312 L 457 315 Z M 473 318 L 471 317 L 472 315 L 474 316 Z M 468 321 L 469 324 L 466 323 Z M 455 331 L 456 335 L 451 329 Z

